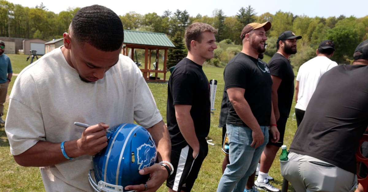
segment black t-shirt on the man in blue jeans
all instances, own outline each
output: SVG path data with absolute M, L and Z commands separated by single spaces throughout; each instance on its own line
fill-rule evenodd
M 244 88 L 244 98 L 258 124 L 270 125 L 272 79 L 269 68 L 264 62 L 240 52 L 226 65 L 224 81 L 225 91 L 233 87 Z M 227 124 L 249 127 L 237 115 L 229 98 L 227 98 L 227 106 L 229 109 Z

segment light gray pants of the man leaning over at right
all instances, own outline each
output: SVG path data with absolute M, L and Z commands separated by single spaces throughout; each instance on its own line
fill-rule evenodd
M 280 161 L 281 175 L 297 192 L 348 192 L 357 185 L 357 175 L 308 155 L 290 152 L 288 161 Z M 311 162 L 326 163 L 330 166 Z

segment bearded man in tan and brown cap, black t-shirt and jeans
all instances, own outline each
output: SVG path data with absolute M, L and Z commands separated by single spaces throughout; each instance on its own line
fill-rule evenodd
M 269 125 L 276 124 L 271 101 L 272 79 L 267 65 L 257 59 L 265 51 L 266 31 L 270 28 L 270 22 L 246 25 L 240 36 L 243 49 L 224 69 L 230 164 L 224 170 L 217 192 L 244 191 L 268 142 Z M 277 127 L 270 129 L 276 142 Z

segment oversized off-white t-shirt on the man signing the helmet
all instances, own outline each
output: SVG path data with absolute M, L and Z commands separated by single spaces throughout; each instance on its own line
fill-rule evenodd
M 141 71 L 120 55 L 103 79 L 85 83 L 57 48 L 22 70 L 10 94 L 6 133 L 10 151 L 19 155 L 38 141 L 81 137 L 74 122 L 110 126 L 136 121 L 145 128 L 162 120 Z M 61 150 L 60 150 L 61 153 Z M 47 157 L 45 157 L 47 158 Z M 93 191 L 88 182 L 92 156 L 40 167 L 46 191 Z

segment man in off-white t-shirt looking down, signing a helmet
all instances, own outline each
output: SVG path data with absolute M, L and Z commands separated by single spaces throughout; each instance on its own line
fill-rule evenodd
M 5 130 L 15 161 L 40 167 L 46 191 L 93 191 L 88 171 L 92 156 L 107 146 L 106 128 L 135 120 L 155 140 L 158 161 L 170 167 L 170 138 L 151 91 L 134 62 L 120 54 L 118 15 L 103 6 L 83 7 L 63 36 L 64 46 L 14 82 Z M 156 191 L 169 175 L 158 163 L 139 173 L 150 180 L 125 190 Z

